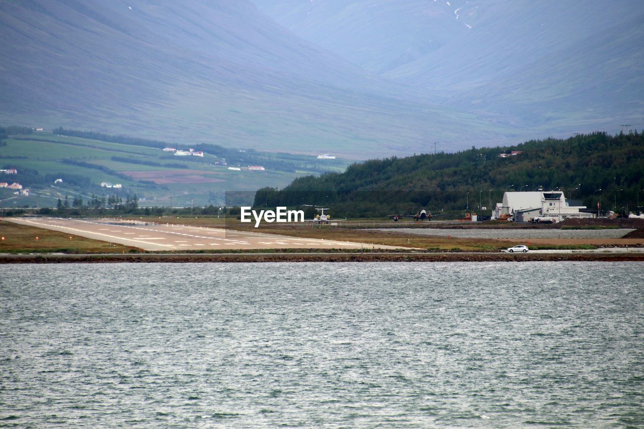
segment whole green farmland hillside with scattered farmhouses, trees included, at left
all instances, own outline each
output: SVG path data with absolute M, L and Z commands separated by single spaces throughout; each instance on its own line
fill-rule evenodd
M 166 147 L 203 151 L 204 157 L 179 157 Z M 346 160 L 311 155 L 263 153 L 213 144 L 169 144 L 91 131 L 0 128 L 0 182 L 18 182 L 30 195 L 0 188 L 1 207 L 52 207 L 59 198 L 137 195 L 140 206 L 223 205 L 226 191 L 286 186 L 302 175 L 343 171 Z M 251 171 L 249 166 L 262 166 Z M 232 170 L 239 168 L 240 170 Z M 58 181 L 62 179 L 62 182 Z M 56 182 L 56 183 L 55 183 Z M 102 187 L 102 182 L 121 188 Z

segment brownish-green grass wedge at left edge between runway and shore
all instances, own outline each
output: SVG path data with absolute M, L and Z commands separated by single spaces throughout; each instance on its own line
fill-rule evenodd
M 2 220 L 0 235 L 0 253 L 128 253 L 135 249 Z

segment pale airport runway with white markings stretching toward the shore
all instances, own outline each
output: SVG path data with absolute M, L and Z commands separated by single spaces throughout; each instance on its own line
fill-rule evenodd
M 94 240 L 138 247 L 145 251 L 212 249 L 397 249 L 370 243 L 338 242 L 251 233 L 223 228 L 188 225 L 123 222 L 109 219 L 5 218 L 15 224 L 31 225 L 75 234 Z

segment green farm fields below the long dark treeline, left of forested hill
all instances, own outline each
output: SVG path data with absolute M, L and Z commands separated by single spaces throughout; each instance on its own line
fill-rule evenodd
M 48 132 L 14 136 L 5 141 L 6 146 L 0 148 L 0 166 L 15 167 L 19 174 L 0 177 L 0 181 L 20 182 L 31 189 L 32 196 L 13 196 L 12 193 L 2 193 L 0 204 L 3 207 L 23 207 L 24 205 L 33 207 L 36 204 L 39 207 L 55 206 L 57 198 L 64 199 L 65 195 L 70 198 L 82 195 L 87 200 L 91 194 L 101 196 L 115 193 L 101 188 L 101 182 L 122 184 L 123 189 L 120 193 L 123 195 L 136 193 L 141 206 L 223 205 L 225 203 L 223 195 L 227 191 L 255 191 L 263 186 L 283 187 L 298 176 L 312 174 L 306 169 L 299 169 L 298 172 L 270 168 L 265 171 L 244 169 L 232 171 L 227 166 L 215 165 L 215 162 L 220 159 L 209 153 L 205 153 L 204 158 L 191 157 L 191 160 L 187 160 L 187 158 L 163 152 L 160 148 L 66 137 Z M 267 155 L 267 159 L 273 157 L 276 160 L 292 159 L 294 155 Z M 310 158 L 313 166 L 314 157 Z M 73 165 L 64 160 L 92 164 L 97 167 Z M 148 165 L 142 162 L 160 165 Z M 167 167 L 165 164 L 183 168 Z M 99 167 L 106 167 L 109 171 L 101 170 Z M 319 168 L 319 165 L 317 167 Z M 27 169 L 37 171 L 41 179 L 36 183 L 33 175 L 25 176 L 21 173 Z M 79 187 L 64 182 L 52 187 L 53 183 L 45 183 L 42 178 L 44 175 L 63 173 L 89 178 L 92 186 Z M 146 181 L 148 183 L 145 183 Z M 36 196 L 41 198 L 37 200 Z

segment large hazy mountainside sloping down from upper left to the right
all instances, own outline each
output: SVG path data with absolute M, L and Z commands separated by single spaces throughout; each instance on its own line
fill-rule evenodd
M 247 0 L 2 1 L 0 70 L 7 124 L 357 158 L 515 135 L 419 101 Z

